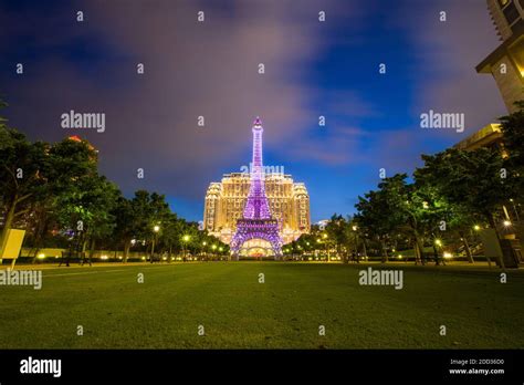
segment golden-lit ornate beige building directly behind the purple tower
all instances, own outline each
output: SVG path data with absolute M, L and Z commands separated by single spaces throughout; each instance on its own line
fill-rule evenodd
M 242 218 L 250 189 L 249 173 L 226 174 L 213 181 L 206 194 L 203 227 L 226 243 L 231 241 L 237 220 Z M 279 220 L 284 243 L 310 232 L 310 196 L 304 184 L 283 173 L 265 174 L 265 195 L 271 215 Z

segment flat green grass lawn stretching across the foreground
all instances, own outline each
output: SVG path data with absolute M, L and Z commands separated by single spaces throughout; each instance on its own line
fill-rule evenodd
M 41 290 L 0 287 L 0 347 L 524 346 L 523 271 L 510 272 L 501 284 L 494 270 L 399 263 L 389 267 L 405 270 L 404 289 L 395 290 L 359 285 L 365 267 L 205 262 L 44 269 Z M 144 283 L 137 283 L 140 272 Z M 265 283 L 259 283 L 259 273 Z M 77 325 L 84 335 L 76 334 Z

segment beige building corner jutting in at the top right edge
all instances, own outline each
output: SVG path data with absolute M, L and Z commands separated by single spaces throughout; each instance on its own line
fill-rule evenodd
M 501 44 L 478 66 L 491 74 L 510 113 L 524 100 L 524 0 L 488 0 Z

